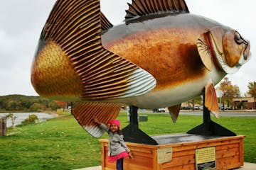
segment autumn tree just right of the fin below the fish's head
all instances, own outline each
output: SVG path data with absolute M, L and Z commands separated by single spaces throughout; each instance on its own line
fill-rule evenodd
M 233 98 L 240 98 L 240 90 L 239 87 L 233 85 L 228 77 L 225 77 L 223 81 L 220 82 L 220 86 L 218 87 L 222 91 L 221 101 L 223 102 L 223 108 L 226 104 L 230 106 L 232 103 Z

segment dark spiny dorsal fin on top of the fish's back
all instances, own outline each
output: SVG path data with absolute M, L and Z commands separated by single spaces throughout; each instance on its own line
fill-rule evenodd
M 132 0 L 126 20 L 157 13 L 189 13 L 184 0 Z

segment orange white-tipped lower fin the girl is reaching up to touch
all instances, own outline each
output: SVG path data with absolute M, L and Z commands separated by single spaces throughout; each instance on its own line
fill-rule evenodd
M 92 121 L 96 117 L 100 122 L 107 124 L 117 118 L 122 107 L 121 103 L 103 102 L 76 102 L 72 108 L 72 114 L 78 123 L 93 137 L 100 137 L 104 131 Z

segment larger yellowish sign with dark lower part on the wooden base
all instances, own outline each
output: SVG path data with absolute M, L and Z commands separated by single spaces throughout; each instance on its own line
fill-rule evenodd
M 196 170 L 206 170 L 216 168 L 215 147 L 205 147 L 196 149 Z

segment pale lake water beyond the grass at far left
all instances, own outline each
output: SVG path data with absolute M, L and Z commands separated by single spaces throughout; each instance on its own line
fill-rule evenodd
M 48 113 L 14 113 L 14 116 L 16 117 L 16 119 L 14 120 L 14 126 L 20 125 L 23 120 L 28 118 L 29 115 L 33 115 L 33 114 L 38 117 L 39 122 L 46 121 L 50 118 L 55 118 L 56 116 L 54 114 L 48 114 Z M 9 113 L 0 113 L 0 116 L 1 115 L 9 115 Z M 6 126 L 7 128 L 11 127 L 11 118 L 7 119 Z

